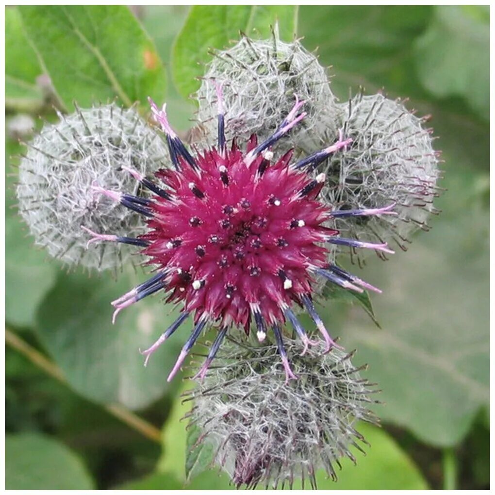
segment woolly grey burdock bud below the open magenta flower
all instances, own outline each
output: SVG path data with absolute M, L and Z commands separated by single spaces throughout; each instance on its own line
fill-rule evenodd
M 286 340 L 298 380 L 281 380 L 275 345 L 229 342 L 197 388 L 189 427 L 200 429 L 193 448 L 207 445 L 212 463 L 239 488 L 264 484 L 276 489 L 296 477 L 316 488 L 315 472 L 323 468 L 337 479 L 340 459 L 355 462 L 350 450 L 366 444 L 357 421 L 378 423 L 368 410 L 376 402 L 375 384 L 360 378 L 353 353 L 318 348 L 300 354 L 300 342 Z M 361 445 L 360 445 L 361 444 Z

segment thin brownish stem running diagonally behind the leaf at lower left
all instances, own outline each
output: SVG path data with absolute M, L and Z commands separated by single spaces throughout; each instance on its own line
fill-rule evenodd
M 49 359 L 47 359 L 40 351 L 30 346 L 27 342 L 22 340 L 11 330 L 5 328 L 5 342 L 23 356 L 25 356 L 33 364 L 41 368 L 45 373 L 50 375 L 55 380 L 68 385 L 62 370 Z M 112 416 L 125 423 L 127 426 L 141 433 L 143 436 L 155 442 L 161 444 L 161 432 L 148 421 L 140 418 L 132 411 L 127 409 L 121 404 L 102 404 L 103 408 Z

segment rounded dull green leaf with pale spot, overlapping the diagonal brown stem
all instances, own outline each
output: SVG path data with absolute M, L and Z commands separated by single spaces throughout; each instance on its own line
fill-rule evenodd
M 160 297 L 148 297 L 111 323 L 110 301 L 148 276 L 124 273 L 115 282 L 74 273 L 60 276 L 37 315 L 38 335 L 69 384 L 82 396 L 142 408 L 170 390 L 166 377 L 190 332 L 189 323 L 158 349 L 148 366 L 139 349 L 149 347 L 177 317 Z M 179 377 L 176 380 L 180 380 Z

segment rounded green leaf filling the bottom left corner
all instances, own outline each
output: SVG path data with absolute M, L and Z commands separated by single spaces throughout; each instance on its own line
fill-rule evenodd
M 5 438 L 7 490 L 93 490 L 77 455 L 63 444 L 38 434 Z

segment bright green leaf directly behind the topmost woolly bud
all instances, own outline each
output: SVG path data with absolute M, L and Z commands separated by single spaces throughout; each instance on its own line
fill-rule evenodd
M 175 40 L 172 68 L 179 93 L 188 98 L 199 88 L 196 78 L 211 55 L 208 49 L 224 49 L 243 31 L 248 36 L 270 36 L 271 26 L 279 21 L 282 40 L 290 41 L 297 30 L 295 5 L 194 5 Z

